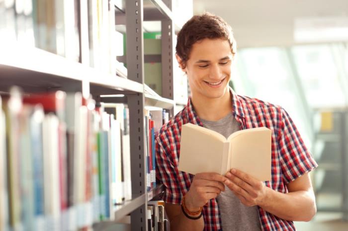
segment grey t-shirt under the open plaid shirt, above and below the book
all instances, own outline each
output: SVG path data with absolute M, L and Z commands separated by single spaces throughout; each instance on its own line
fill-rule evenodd
M 203 126 L 226 138 L 240 130 L 240 123 L 229 113 L 218 121 L 200 119 Z M 216 198 L 220 210 L 223 231 L 261 231 L 258 207 L 248 207 L 226 186 Z

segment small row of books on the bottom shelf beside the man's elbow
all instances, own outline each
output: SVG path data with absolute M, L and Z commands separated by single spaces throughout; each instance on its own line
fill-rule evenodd
M 167 231 L 169 222 L 164 201 L 149 201 L 147 207 L 148 231 Z

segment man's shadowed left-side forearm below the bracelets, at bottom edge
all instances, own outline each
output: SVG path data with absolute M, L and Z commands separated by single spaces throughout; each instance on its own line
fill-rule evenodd
M 174 217 L 171 221 L 171 231 L 202 231 L 204 229 L 204 220 L 203 216 L 197 220 L 191 220 L 186 218 L 186 216 L 182 213 Z

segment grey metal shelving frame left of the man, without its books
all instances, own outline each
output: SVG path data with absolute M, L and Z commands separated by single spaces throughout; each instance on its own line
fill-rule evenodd
M 125 95 L 130 121 L 132 200 L 115 206 L 114 220 L 99 227 L 105 229 L 108 224 L 114 224 L 130 214 L 131 230 L 147 231 L 147 202 L 163 192 L 163 185 L 147 192 L 144 107 L 162 107 L 173 116 L 173 36 L 177 26 L 173 20 L 172 0 L 115 2 L 116 24 L 124 24 L 127 34 L 127 78 L 103 73 L 38 48 L 15 43 L 0 44 L 0 91 L 8 92 L 12 85 L 21 87 L 27 93 L 80 91 L 101 102 L 116 101 L 115 97 L 101 95 Z M 144 90 L 144 60 L 148 59 L 143 48 L 144 20 L 161 21 L 162 96 L 150 95 Z

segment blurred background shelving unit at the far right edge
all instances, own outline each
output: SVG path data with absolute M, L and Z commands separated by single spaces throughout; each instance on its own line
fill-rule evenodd
M 348 108 L 316 109 L 314 114 L 321 117 L 314 142 L 318 211 L 340 212 L 348 221 Z

